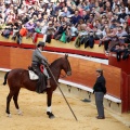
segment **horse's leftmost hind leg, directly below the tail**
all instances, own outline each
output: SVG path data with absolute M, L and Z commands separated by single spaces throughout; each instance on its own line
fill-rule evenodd
M 6 114 L 9 117 L 11 117 L 11 114 L 10 114 L 10 102 L 11 102 L 11 99 L 13 96 L 14 92 L 10 90 L 10 93 L 9 95 L 6 96 Z

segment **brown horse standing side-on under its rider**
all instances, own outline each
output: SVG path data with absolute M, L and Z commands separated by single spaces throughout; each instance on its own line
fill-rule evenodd
M 72 75 L 70 64 L 69 64 L 67 57 L 68 57 L 68 55 L 65 54 L 64 57 L 60 57 L 60 58 L 55 60 L 49 66 L 50 70 L 51 70 L 51 73 L 50 73 L 51 88 L 47 89 L 47 99 L 48 99 L 47 114 L 49 115 L 49 118 L 54 117 L 54 115 L 51 112 L 52 93 L 57 87 L 57 83 L 55 81 L 58 80 L 61 70 L 63 69 L 67 76 Z M 55 80 L 53 79 L 53 77 L 55 77 Z M 23 69 L 23 68 L 15 68 L 15 69 L 12 69 L 11 72 L 8 72 L 4 76 L 3 84 L 6 84 L 6 80 L 8 80 L 8 84 L 10 88 L 10 92 L 6 98 L 6 110 L 5 112 L 6 112 L 8 116 L 11 116 L 10 102 L 11 102 L 11 99 L 13 98 L 15 107 L 17 109 L 17 114 L 22 114 L 22 112 L 20 110 L 20 107 L 18 107 L 18 103 L 17 103 L 20 90 L 21 90 L 21 88 L 26 88 L 30 91 L 36 91 L 37 80 L 30 80 L 28 70 Z

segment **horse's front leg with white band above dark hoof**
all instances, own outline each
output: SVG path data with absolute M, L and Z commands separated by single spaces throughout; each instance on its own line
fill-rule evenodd
M 47 91 L 47 105 L 48 105 L 47 115 L 51 119 L 54 118 L 54 115 L 52 114 L 52 110 L 51 110 L 52 93 L 53 93 L 52 90 L 48 89 L 48 91 Z

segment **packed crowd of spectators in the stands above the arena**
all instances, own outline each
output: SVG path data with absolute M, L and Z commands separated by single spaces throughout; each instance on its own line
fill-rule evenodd
M 75 40 L 76 48 L 93 48 L 99 40 L 106 54 L 123 44 L 129 55 L 130 0 L 3 0 L 0 29 L 20 44 L 23 36 L 37 42 L 42 34 L 48 43 Z

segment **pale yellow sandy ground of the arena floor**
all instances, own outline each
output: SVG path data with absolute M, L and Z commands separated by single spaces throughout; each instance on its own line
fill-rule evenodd
M 2 81 L 0 79 L 0 130 L 130 130 L 130 114 L 119 115 L 105 109 L 106 119 L 98 120 L 95 105 L 66 95 L 78 118 L 76 121 L 58 89 L 53 94 L 54 119 L 49 119 L 46 114 L 46 94 L 37 94 L 25 89 L 21 90 L 18 99 L 23 116 L 16 114 L 12 101 L 12 117 L 9 118 L 5 114 L 9 88 L 2 86 Z

